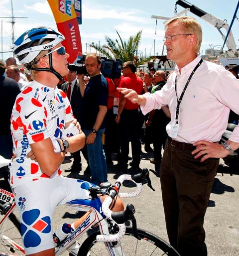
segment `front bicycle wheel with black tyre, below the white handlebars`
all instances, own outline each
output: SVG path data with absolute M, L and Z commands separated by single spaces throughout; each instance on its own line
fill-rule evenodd
M 141 240 L 133 236 L 131 227 L 126 227 L 125 235 L 118 242 L 125 256 L 179 256 L 173 247 L 159 237 L 141 229 L 137 229 L 137 232 Z M 91 256 L 108 255 L 105 244 L 96 242 L 97 235 L 100 235 L 100 231 L 95 232 L 85 240 L 78 256 L 87 256 L 88 253 Z

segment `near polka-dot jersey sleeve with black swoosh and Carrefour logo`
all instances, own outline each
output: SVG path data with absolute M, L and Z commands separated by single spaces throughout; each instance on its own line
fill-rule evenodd
M 46 127 L 47 111 L 42 102 L 31 97 L 18 97 L 15 102 L 16 120 L 12 120 L 14 129 L 23 129 L 30 144 L 49 136 Z

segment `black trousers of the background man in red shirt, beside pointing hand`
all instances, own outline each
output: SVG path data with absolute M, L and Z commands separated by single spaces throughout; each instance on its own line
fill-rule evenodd
M 138 110 L 123 110 L 119 121 L 120 133 L 120 164 L 126 165 L 128 162 L 129 141 L 131 141 L 132 161 L 134 164 L 140 163 L 141 143 L 138 129 Z

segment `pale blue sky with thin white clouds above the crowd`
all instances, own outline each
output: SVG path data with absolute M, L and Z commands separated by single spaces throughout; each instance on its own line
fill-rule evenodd
M 229 24 L 238 3 L 238 0 L 188 1 L 222 20 L 227 19 Z M 15 38 L 34 26 L 46 25 L 56 28 L 47 0 L 12 0 L 12 2 L 15 16 L 28 17 L 27 19 L 15 20 Z M 83 52 L 86 52 L 86 44 L 91 42 L 99 43 L 100 41 L 101 45 L 104 44 L 105 35 L 116 39 L 116 30 L 119 31 L 122 38 L 127 39 L 142 29 L 139 53 L 145 54 L 146 52 L 149 54 L 151 52 L 153 54 L 153 40 L 155 39 L 155 53 L 160 55 L 164 37 L 163 20 L 157 21 L 157 34 L 155 35 L 155 19 L 152 19 L 151 15 L 173 16 L 175 2 L 176 0 L 82 0 L 83 23 L 79 27 Z M 183 9 L 181 6 L 177 7 L 178 12 Z M 8 15 L 11 15 L 10 0 L 1 0 L 0 16 Z M 187 15 L 196 17 L 202 25 L 203 43 L 201 50 L 203 53 L 205 53 L 205 49 L 210 48 L 209 44 L 223 45 L 223 39 L 215 27 L 190 12 Z M 11 25 L 6 22 L 7 19 L 0 18 L 0 20 L 3 20 L 3 51 L 8 51 L 11 45 Z M 235 20 L 232 31 L 238 48 L 238 20 Z M 3 54 L 3 59 L 9 56 L 12 55 Z

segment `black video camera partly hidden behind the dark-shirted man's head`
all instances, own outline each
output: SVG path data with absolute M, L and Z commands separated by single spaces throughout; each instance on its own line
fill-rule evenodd
M 85 66 L 86 55 L 78 56 L 74 64 L 68 64 L 70 71 L 75 71 L 77 74 L 87 74 Z M 120 59 L 112 60 L 106 57 L 101 57 L 101 73 L 104 77 L 119 78 L 121 77 L 122 61 Z

